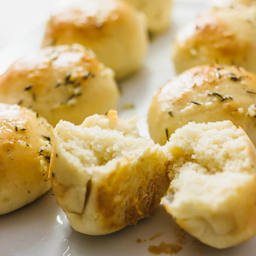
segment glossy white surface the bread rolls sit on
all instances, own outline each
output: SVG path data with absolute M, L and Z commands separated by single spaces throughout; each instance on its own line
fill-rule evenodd
M 122 111 L 120 115 L 129 117 L 134 113 L 139 114 L 139 129 L 143 135 L 148 136 L 146 116 L 154 92 L 175 75 L 169 58 L 175 31 L 205 8 L 203 2 L 196 5 L 191 1 L 178 1 L 173 10 L 173 23 L 169 32 L 151 43 L 142 70 L 121 83 L 120 107 L 134 103 L 136 108 Z M 37 26 L 22 42 L 0 51 L 0 73 L 19 56 L 39 49 L 43 29 L 43 25 Z M 15 212 L 0 216 L 1 256 L 148 256 L 152 255 L 147 250 L 149 245 L 159 245 L 161 241 L 175 243 L 174 222 L 162 206 L 155 210 L 151 218 L 139 221 L 135 227 L 129 226 L 111 235 L 93 237 L 75 232 L 70 227 L 66 215 L 51 193 L 48 192 Z M 148 239 L 160 232 L 164 234 L 154 241 L 136 243 L 138 238 Z M 189 235 L 186 238 L 187 242 L 178 256 L 199 255 L 198 248 L 202 248 L 202 255 L 207 256 L 255 255 L 256 238 L 226 250 L 198 245 Z

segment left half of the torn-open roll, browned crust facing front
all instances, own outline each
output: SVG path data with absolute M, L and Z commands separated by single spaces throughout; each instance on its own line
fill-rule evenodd
M 168 190 L 168 155 L 140 137 L 136 122 L 109 111 L 56 125 L 49 178 L 76 231 L 104 235 L 135 225 Z

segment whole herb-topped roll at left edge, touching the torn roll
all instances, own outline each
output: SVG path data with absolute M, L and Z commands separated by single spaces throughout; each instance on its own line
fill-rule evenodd
M 0 103 L 0 214 L 46 193 L 53 127 L 18 105 Z

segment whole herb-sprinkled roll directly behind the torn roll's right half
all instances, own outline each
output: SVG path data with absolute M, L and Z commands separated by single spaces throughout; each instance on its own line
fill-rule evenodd
M 235 66 L 199 66 L 164 85 L 148 112 L 149 133 L 164 145 L 189 121 L 231 120 L 256 145 L 256 76 Z

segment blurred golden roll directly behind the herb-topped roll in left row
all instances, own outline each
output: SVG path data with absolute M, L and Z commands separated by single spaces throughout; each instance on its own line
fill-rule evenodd
M 42 46 L 80 43 L 122 79 L 140 68 L 147 48 L 143 13 L 119 0 L 75 2 L 49 20 Z

